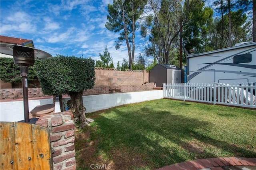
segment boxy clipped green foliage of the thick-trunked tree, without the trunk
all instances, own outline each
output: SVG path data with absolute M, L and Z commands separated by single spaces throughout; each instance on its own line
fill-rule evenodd
M 46 95 L 70 94 L 91 89 L 95 82 L 94 60 L 58 55 L 34 65 Z

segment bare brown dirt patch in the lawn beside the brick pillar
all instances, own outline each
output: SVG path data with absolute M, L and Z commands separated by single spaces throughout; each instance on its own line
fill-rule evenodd
M 82 132 L 75 133 L 76 167 L 78 170 L 86 170 L 101 167 L 108 170 L 124 170 L 133 167 L 143 167 L 147 163 L 142 159 L 143 155 L 136 153 L 136 150 L 123 147 L 122 149 L 112 148 L 104 156 L 98 152 L 100 140 L 91 140 L 92 131 L 88 127 Z M 96 129 L 93 129 L 96 131 Z

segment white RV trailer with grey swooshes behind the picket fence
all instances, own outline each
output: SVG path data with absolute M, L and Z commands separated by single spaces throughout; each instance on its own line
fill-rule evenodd
M 256 83 L 256 42 L 187 56 L 188 83 Z

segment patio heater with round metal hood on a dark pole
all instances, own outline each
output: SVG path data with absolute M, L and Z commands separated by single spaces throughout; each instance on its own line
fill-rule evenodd
M 52 55 L 34 49 L 31 47 L 14 45 L 14 44 L 0 44 L 0 53 L 13 56 L 13 63 L 20 65 L 20 76 L 22 76 L 22 91 L 23 91 L 23 106 L 24 106 L 24 121 L 29 122 L 28 111 L 28 67 L 33 66 L 35 58 L 45 59 L 51 58 Z

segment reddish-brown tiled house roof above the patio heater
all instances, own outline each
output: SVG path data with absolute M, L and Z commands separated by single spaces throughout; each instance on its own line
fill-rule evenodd
M 10 44 L 19 44 L 19 45 L 27 45 L 29 44 L 28 46 L 29 47 L 33 47 L 34 48 L 34 43 L 32 40 L 30 39 L 22 39 L 21 37 L 20 38 L 14 38 L 14 37 L 7 37 L 7 36 L 3 36 L 3 35 L 0 35 L 0 42 L 1 43 L 10 43 Z

